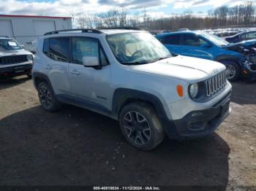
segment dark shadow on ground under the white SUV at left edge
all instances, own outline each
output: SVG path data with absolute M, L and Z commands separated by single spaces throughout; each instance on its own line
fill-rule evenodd
M 0 79 L 0 90 L 4 90 L 9 87 L 14 87 L 16 85 L 20 85 L 20 84 L 28 81 L 29 79 L 31 79 L 31 78 L 29 78 L 27 76 Z

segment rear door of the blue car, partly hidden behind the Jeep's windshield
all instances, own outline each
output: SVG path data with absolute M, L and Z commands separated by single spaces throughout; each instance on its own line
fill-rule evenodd
M 170 52 L 180 54 L 181 49 L 180 49 L 180 40 L 181 40 L 181 35 L 180 34 L 170 34 L 163 36 L 161 39 L 159 39 L 162 44 L 165 44 L 165 47 Z

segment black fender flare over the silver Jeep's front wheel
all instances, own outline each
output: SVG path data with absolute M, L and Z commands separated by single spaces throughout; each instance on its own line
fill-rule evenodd
M 164 106 L 156 95 L 128 88 L 118 88 L 114 91 L 112 100 L 113 116 L 118 119 L 118 114 L 121 112 L 121 109 L 132 101 L 146 101 L 154 106 L 154 109 L 156 110 L 160 119 L 167 118 Z

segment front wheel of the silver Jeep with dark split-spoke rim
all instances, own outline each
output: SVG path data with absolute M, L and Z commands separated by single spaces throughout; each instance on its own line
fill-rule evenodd
M 154 149 L 165 138 L 157 113 L 144 102 L 124 106 L 119 114 L 119 125 L 129 144 L 144 151 Z

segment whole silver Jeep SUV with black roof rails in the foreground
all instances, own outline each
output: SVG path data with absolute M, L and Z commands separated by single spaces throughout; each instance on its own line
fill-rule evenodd
M 45 110 L 65 103 L 105 114 L 143 150 L 165 135 L 206 136 L 230 114 L 225 66 L 174 55 L 136 29 L 49 32 L 37 41 L 32 76 Z

